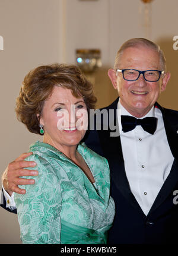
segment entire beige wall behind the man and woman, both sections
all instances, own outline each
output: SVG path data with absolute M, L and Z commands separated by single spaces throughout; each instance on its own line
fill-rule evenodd
M 125 40 L 145 36 L 141 8 L 140 0 L 0 0 L 0 35 L 4 37 L 4 50 L 0 51 L 0 173 L 39 139 L 15 118 L 15 98 L 24 75 L 42 64 L 74 63 L 77 48 L 100 48 L 103 67 L 96 72 L 94 90 L 98 107 L 111 103 L 117 93 L 107 69 L 113 67 L 117 49 Z M 154 0 L 150 39 L 163 47 L 172 72 L 160 103 L 178 110 L 178 50 L 173 50 L 177 12 L 177 0 Z M 0 216 L 0 244 L 20 243 L 17 216 L 2 208 Z

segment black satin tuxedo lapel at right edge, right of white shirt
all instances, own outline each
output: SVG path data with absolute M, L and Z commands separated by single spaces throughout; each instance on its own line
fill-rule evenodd
M 167 140 L 170 146 L 170 150 L 174 156 L 174 162 L 171 167 L 169 176 L 161 187 L 160 192 L 158 193 L 157 198 L 155 199 L 154 204 L 152 204 L 148 214 L 151 214 L 152 211 L 156 210 L 160 204 L 166 200 L 169 194 L 173 191 L 176 182 L 178 181 L 178 113 L 174 112 L 173 110 L 164 109 L 158 105 L 158 103 L 156 103 L 156 106 L 161 110 L 163 115 Z

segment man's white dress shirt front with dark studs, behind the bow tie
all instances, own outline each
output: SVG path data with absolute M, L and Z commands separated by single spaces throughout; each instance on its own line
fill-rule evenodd
M 120 141 L 129 186 L 145 215 L 148 214 L 173 165 L 164 128 L 161 110 L 152 107 L 142 118 L 151 116 L 158 119 L 154 135 L 144 131 L 141 125 L 129 132 L 122 131 L 120 115 L 132 116 L 120 104 L 117 105 Z

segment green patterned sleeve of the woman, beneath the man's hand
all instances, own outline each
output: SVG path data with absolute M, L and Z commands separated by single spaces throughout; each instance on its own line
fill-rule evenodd
M 33 185 L 21 185 L 26 194 L 15 193 L 18 222 L 23 244 L 61 243 L 61 187 L 53 167 L 33 154 L 26 160 L 35 161 L 39 175 Z M 28 168 L 28 169 L 35 169 Z

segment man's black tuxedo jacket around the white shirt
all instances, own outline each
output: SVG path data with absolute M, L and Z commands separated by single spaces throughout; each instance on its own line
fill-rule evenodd
M 113 109 L 115 124 L 118 100 L 119 98 L 104 108 L 108 112 Z M 147 216 L 129 188 L 120 137 L 110 137 L 110 128 L 104 129 L 101 120 L 101 130 L 87 131 L 84 138 L 85 144 L 106 157 L 110 166 L 111 195 L 115 200 L 116 215 L 109 232 L 109 244 L 174 244 L 177 242 L 178 205 L 173 203 L 173 198 L 176 201 L 173 191 L 178 189 L 178 112 L 162 108 L 158 103 L 155 105 L 163 114 L 164 127 L 174 162 Z

